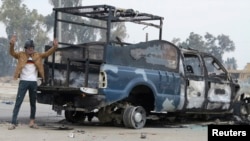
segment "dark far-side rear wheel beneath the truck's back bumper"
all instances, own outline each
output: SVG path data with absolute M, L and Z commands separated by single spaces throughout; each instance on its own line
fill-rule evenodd
M 69 110 L 65 110 L 64 116 L 68 122 L 72 122 L 72 123 L 83 122 L 86 118 L 86 115 L 84 112 L 69 111 Z

